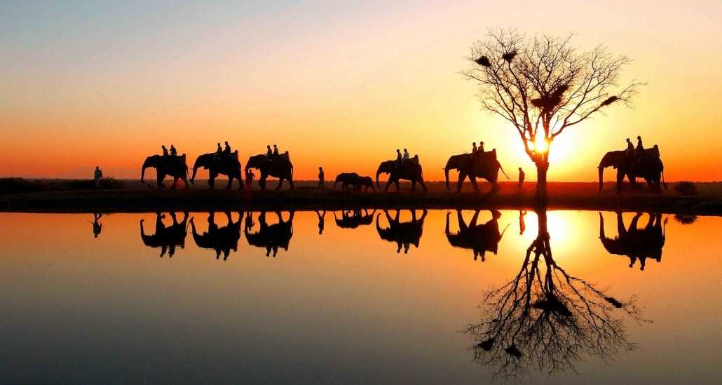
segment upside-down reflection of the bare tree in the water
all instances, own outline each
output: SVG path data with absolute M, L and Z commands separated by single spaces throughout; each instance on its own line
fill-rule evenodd
M 539 235 L 518 274 L 487 294 L 482 322 L 464 331 L 479 341 L 471 348 L 474 360 L 494 368 L 495 379 L 518 380 L 529 371 L 574 371 L 584 355 L 609 362 L 619 351 L 635 348 L 627 341 L 622 317 L 643 321 L 633 296 L 612 298 L 557 265 L 546 209 L 538 215 Z

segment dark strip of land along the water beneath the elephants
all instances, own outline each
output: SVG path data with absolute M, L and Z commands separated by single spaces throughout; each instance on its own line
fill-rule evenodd
M 531 186 L 530 186 L 531 187 Z M 531 190 L 531 189 L 529 189 Z M 0 212 L 116 213 L 116 212 L 239 212 L 313 211 L 344 209 L 534 209 L 534 192 L 357 192 L 282 190 L 103 190 L 49 191 L 0 195 Z M 547 209 L 655 212 L 663 214 L 722 216 L 722 196 L 610 192 L 558 192 L 547 194 Z

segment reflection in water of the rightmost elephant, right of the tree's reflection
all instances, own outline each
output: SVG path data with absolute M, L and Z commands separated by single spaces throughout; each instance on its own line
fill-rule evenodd
M 647 258 L 656 261 L 662 260 L 662 247 L 666 240 L 665 231 L 662 228 L 662 215 L 648 213 L 649 220 L 644 228 L 637 228 L 637 222 L 642 216 L 641 212 L 632 218 L 630 227 L 625 228 L 622 220 L 622 213 L 617 212 L 617 237 L 606 238 L 604 235 L 604 217 L 599 213 L 599 239 L 609 254 L 628 256 L 630 267 L 634 266 L 637 259 L 640 262 L 640 270 L 644 270 Z M 666 227 L 666 220 L 664 221 Z

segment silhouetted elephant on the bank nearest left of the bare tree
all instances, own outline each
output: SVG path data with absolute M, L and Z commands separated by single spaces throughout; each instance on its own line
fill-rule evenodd
M 499 170 L 504 173 L 504 169 L 497 160 L 496 149 L 487 152 L 475 152 L 474 154 L 451 155 L 444 168 L 447 190 L 451 190 L 451 187 L 449 187 L 449 170 L 452 169 L 458 170 L 459 172 L 456 192 L 461 191 L 461 185 L 464 183 L 464 180 L 466 180 L 466 177 L 469 177 L 471 186 L 474 186 L 474 191 L 479 192 L 477 178 L 484 178 L 492 183 L 491 193 L 495 193 L 501 189 L 499 183 L 497 183 L 497 178 L 499 176 Z M 506 176 L 506 173 L 504 173 L 504 175 Z M 509 177 L 507 176 L 507 178 Z

